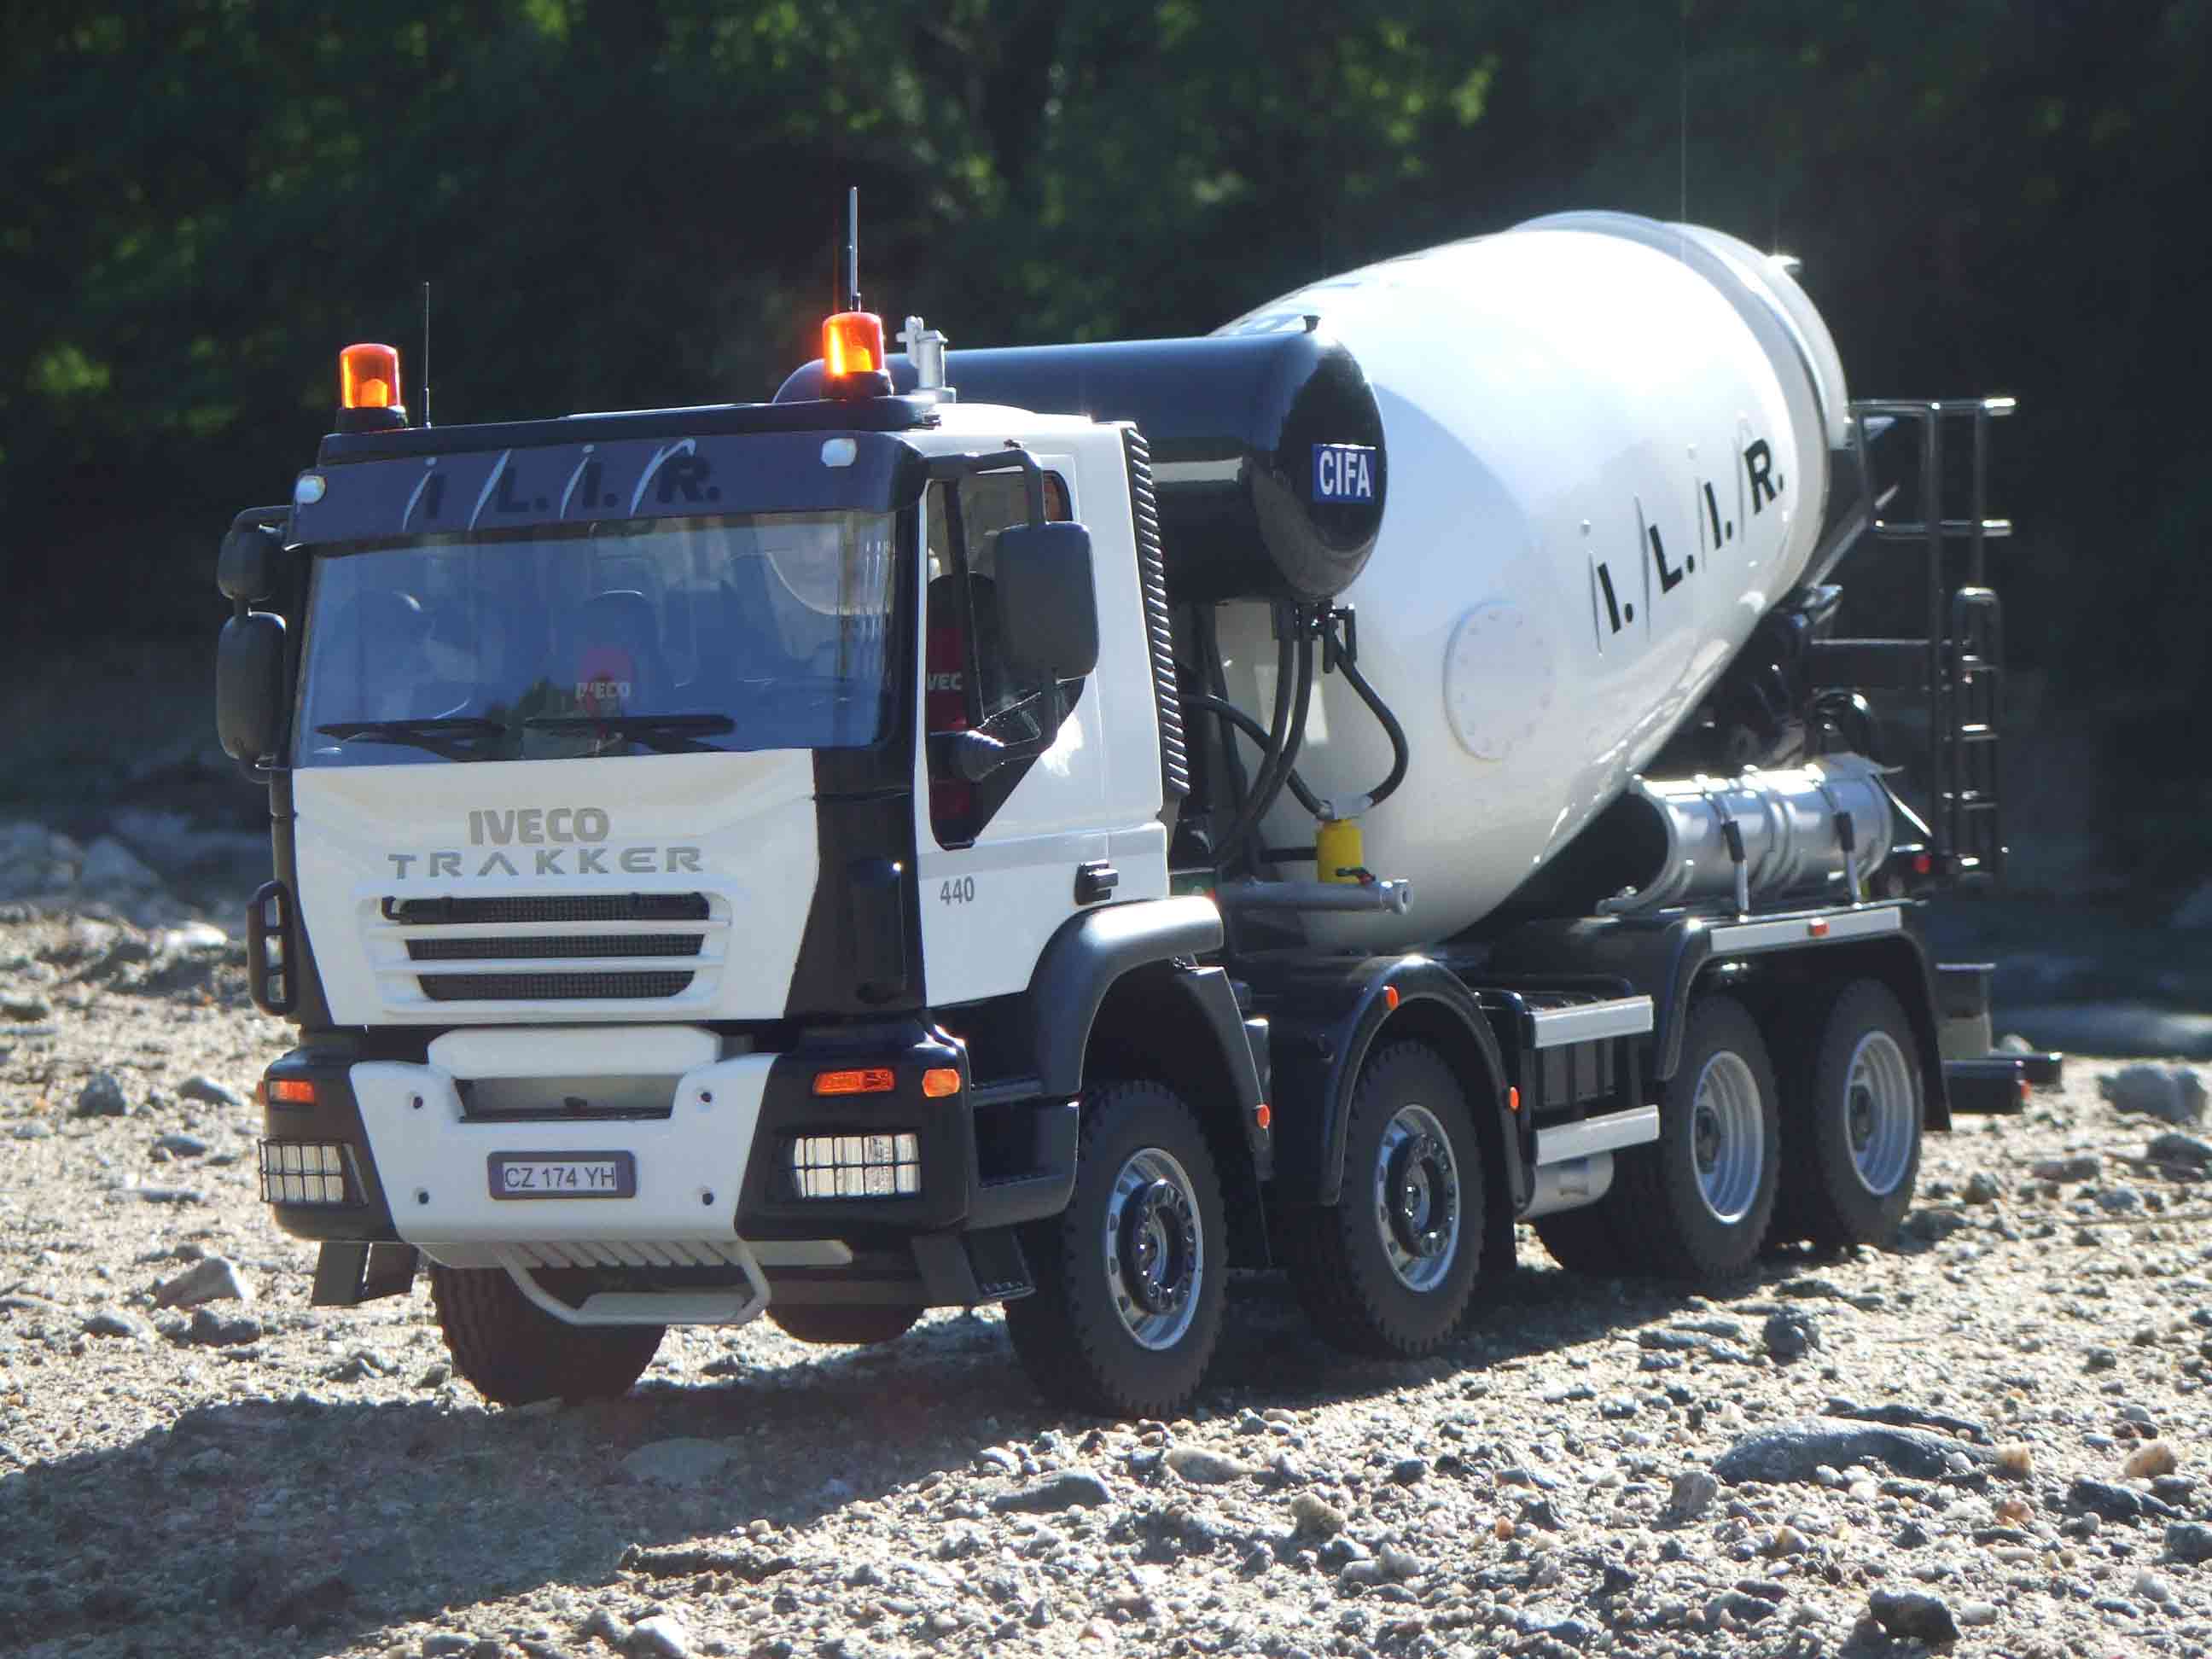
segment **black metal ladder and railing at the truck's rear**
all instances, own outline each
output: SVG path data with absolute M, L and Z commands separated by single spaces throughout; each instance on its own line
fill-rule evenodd
M 1860 500 L 1867 529 L 1880 542 L 1918 544 L 1927 557 L 1927 633 L 1920 639 L 1829 639 L 1816 646 L 1823 684 L 1920 690 L 1929 723 L 1929 858 L 1944 876 L 2004 874 L 2004 827 L 1997 783 L 1997 717 L 2004 699 L 2004 602 L 1986 586 L 1989 542 L 2013 533 L 2011 520 L 1989 518 L 1989 425 L 2015 409 L 2013 398 L 1863 400 L 1851 405 Z M 1920 438 L 1920 518 L 1882 518 L 1871 440 L 1896 422 L 1916 422 Z M 1944 434 L 1966 425 L 1971 513 L 1944 518 Z M 1893 491 L 1891 491 L 1893 493 Z M 1966 571 L 1951 586 L 1947 549 L 1964 542 Z M 1834 675 L 1827 670 L 1836 670 Z

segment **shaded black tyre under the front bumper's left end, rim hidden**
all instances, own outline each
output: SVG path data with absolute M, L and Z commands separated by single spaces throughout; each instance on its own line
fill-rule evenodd
M 429 1263 L 445 1352 L 493 1405 L 613 1400 L 630 1391 L 666 1325 L 564 1325 L 515 1290 L 504 1267 Z

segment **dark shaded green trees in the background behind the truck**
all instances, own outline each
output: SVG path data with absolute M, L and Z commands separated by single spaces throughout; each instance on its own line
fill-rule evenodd
M 2011 657 L 2101 856 L 2212 863 L 2212 0 L 15 0 L 0 562 L 31 672 L 210 639 L 215 540 L 434 283 L 440 422 L 765 398 L 863 288 L 1206 332 L 1571 206 L 1805 261 L 1858 396 L 2011 392 Z M 201 719 L 201 710 L 177 710 Z M 2015 834 L 2015 843 L 2017 843 Z

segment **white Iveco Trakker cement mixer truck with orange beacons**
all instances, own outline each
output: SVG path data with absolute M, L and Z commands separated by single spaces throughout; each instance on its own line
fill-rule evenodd
M 1624 215 L 1188 341 L 889 356 L 838 299 L 765 405 L 429 427 L 347 347 L 223 540 L 316 1303 L 427 1261 L 500 1402 L 1004 1303 L 1051 1396 L 1168 1413 L 1230 1270 L 1420 1356 L 1522 1221 L 1882 1241 L 2017 1104 L 1918 929 L 2002 867 L 2008 403 L 1854 405 L 1783 261 Z M 1916 626 L 1840 637 L 1893 542 Z

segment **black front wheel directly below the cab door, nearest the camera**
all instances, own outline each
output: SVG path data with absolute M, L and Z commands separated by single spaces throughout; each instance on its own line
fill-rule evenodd
M 1084 1091 L 1075 1197 L 1024 1228 L 1022 1245 L 1037 1290 L 1006 1303 L 1006 1336 L 1046 1398 L 1119 1418 L 1168 1418 L 1190 1402 L 1221 1340 L 1228 1219 L 1181 1095 L 1155 1082 Z M 1155 1279 L 1146 1263 L 1159 1263 Z

